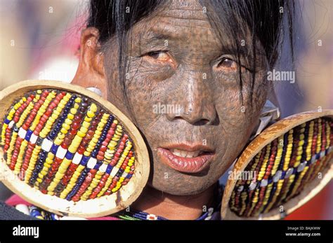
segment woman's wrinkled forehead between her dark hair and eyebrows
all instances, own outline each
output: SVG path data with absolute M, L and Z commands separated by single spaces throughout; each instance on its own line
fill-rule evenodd
M 206 10 L 199 1 L 168 1 L 138 22 L 132 29 L 139 34 L 141 41 L 154 41 L 155 39 L 170 41 L 200 41 L 221 46 L 214 29 L 211 27 Z

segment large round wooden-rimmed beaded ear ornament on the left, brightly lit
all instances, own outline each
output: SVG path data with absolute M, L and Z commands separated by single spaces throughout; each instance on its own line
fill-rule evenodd
M 0 132 L 1 181 L 55 214 L 113 214 L 148 181 L 148 150 L 136 126 L 77 85 L 22 81 L 2 90 Z

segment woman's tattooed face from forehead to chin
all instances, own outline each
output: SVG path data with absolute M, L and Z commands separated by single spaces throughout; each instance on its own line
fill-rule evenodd
M 257 57 L 253 89 L 247 66 L 252 53 L 241 57 L 242 105 L 237 54 L 230 50 L 230 43 L 241 40 L 221 37 L 196 1 L 172 1 L 132 27 L 126 90 L 119 83 L 117 45 L 105 52 L 108 99 L 143 133 L 152 162 L 150 186 L 157 190 L 194 195 L 209 188 L 257 124 L 268 90 L 266 57 Z

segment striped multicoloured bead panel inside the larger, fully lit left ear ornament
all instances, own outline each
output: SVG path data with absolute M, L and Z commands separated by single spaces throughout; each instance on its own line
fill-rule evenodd
M 34 90 L 1 122 L 8 167 L 41 193 L 77 202 L 117 192 L 135 171 L 133 141 L 117 118 L 82 95 Z

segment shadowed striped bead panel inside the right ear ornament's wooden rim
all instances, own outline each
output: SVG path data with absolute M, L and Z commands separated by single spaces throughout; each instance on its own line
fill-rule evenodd
M 231 211 L 260 217 L 301 193 L 332 162 L 332 129 L 332 119 L 317 118 L 266 145 L 244 169 L 247 176 L 237 180 Z

